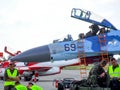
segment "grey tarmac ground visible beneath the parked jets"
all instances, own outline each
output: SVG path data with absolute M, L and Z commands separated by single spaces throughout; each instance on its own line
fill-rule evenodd
M 57 90 L 53 86 L 53 80 L 55 79 L 63 79 L 63 78 L 75 78 L 76 80 L 80 80 L 80 71 L 79 70 L 62 70 L 60 74 L 51 75 L 51 76 L 41 76 L 39 77 L 39 81 L 35 84 L 40 85 L 43 90 Z M 23 85 L 27 85 L 28 82 L 21 81 Z M 3 89 L 4 82 L 0 81 L 0 90 Z

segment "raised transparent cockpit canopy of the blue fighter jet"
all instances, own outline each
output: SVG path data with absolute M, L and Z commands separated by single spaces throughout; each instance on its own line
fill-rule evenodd
M 95 25 L 104 26 L 110 29 L 117 30 L 108 20 L 94 14 L 91 11 L 73 8 L 71 12 L 71 17 L 89 22 Z

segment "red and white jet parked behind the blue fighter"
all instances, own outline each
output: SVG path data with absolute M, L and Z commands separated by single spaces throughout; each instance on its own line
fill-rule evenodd
M 10 52 L 5 46 L 4 51 L 9 54 L 11 57 L 18 55 L 21 51 L 17 51 L 15 53 Z M 0 62 L 0 79 L 3 79 L 5 69 L 9 66 L 10 60 L 1 61 Z M 36 74 L 38 76 L 48 76 L 60 74 L 61 70 L 66 66 L 74 66 L 79 65 L 80 61 L 78 59 L 72 60 L 61 60 L 61 61 L 48 61 L 48 62 L 15 62 L 15 65 L 20 73 L 20 77 L 23 77 L 25 81 L 29 81 Z

